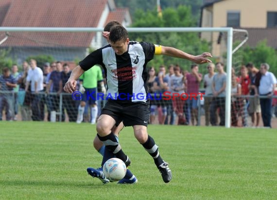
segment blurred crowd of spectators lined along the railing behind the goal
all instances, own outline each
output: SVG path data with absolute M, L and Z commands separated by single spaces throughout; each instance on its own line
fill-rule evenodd
M 262 118 L 263 125 L 271 127 L 271 117 L 277 114 L 277 99 L 272 96 L 277 95 L 277 90 L 276 77 L 269 69 L 266 63 L 261 64 L 260 69 L 248 63 L 240 67 L 239 73 L 232 68 L 232 126 L 259 126 Z M 209 63 L 205 70 L 202 75 L 196 64 L 191 65 L 189 71 L 182 70 L 179 65 L 162 65 L 158 71 L 149 67 L 147 85 L 153 96 L 149 123 L 200 125 L 203 110 L 206 126 L 225 126 L 225 66 L 220 62 Z M 105 92 L 104 71 L 101 68 L 100 71 L 102 74 L 93 88 Z M 65 121 L 67 118 L 71 122 L 94 124 L 104 101 L 86 104 L 82 102 L 84 100 L 73 100 L 70 94 L 64 93 L 63 86 L 70 74 L 69 65 L 59 61 L 45 63 L 41 68 L 37 67 L 35 60 L 25 61 L 20 72 L 17 65 L 11 69 L 3 68 L 0 76 L 0 120 L 2 116 L 9 121 L 17 120 L 20 113 L 21 120 Z M 89 79 L 89 74 L 87 76 Z M 83 81 L 78 81 L 81 92 L 85 91 Z M 166 91 L 180 96 L 170 100 L 154 98 Z M 192 95 L 199 92 L 205 93 L 203 98 Z M 184 94 L 188 95 L 186 100 Z

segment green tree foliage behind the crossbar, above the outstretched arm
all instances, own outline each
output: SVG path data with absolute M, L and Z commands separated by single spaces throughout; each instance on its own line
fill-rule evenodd
M 197 20 L 191 15 L 190 6 L 180 5 L 177 9 L 166 8 L 163 10 L 163 17 L 157 17 L 156 10 L 137 10 L 133 21 L 133 27 L 195 27 Z M 147 20 L 145 20 L 147 19 Z M 209 51 L 207 41 L 201 41 L 199 33 L 129 33 L 131 40 L 145 41 L 162 46 L 170 46 L 183 50 L 193 55 Z M 160 65 L 169 66 L 179 64 L 183 69 L 189 69 L 191 62 L 184 59 L 172 58 L 169 56 L 156 56 L 155 62 L 150 62 L 149 66 L 158 68 Z

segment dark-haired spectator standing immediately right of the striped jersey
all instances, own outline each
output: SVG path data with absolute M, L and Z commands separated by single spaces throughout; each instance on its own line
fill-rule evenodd
M 148 87 L 148 93 L 155 93 L 156 90 L 154 89 L 153 85 L 156 79 L 156 71 L 154 67 L 150 67 L 150 69 L 148 70 L 148 79 L 147 79 L 147 87 Z M 152 98 L 154 98 L 154 96 L 152 96 Z M 150 100 L 150 124 L 154 124 L 155 123 L 155 119 L 156 119 L 156 100 Z

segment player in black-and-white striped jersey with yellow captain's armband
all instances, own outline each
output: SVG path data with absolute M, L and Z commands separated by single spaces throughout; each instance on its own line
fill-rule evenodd
M 206 58 L 211 57 L 211 54 L 205 52 L 194 56 L 172 47 L 147 42 L 130 42 L 128 32 L 122 26 L 112 28 L 109 40 L 109 45 L 93 51 L 73 69 L 64 89 L 72 93 L 76 89 L 76 80 L 86 70 L 97 64 L 104 67 L 110 98 L 97 121 L 96 130 L 99 139 L 128 167 L 131 161 L 121 149 L 111 129 L 121 120 L 125 126 L 133 126 L 138 142 L 153 157 L 163 181 L 168 183 L 172 179 L 172 172 L 168 163 L 161 158 L 154 139 L 147 133 L 150 110 L 146 100 L 146 65 L 154 55 L 163 54 L 202 64 L 211 62 Z

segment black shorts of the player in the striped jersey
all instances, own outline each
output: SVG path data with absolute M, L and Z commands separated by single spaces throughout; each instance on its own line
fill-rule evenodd
M 108 100 L 102 109 L 101 115 L 108 115 L 114 118 L 116 126 L 123 121 L 124 126 L 148 125 L 150 116 L 149 103 L 138 101 Z

